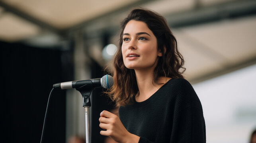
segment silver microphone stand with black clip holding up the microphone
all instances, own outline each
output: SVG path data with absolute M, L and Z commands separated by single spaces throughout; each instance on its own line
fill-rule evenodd
M 92 81 L 91 81 L 92 82 Z M 89 108 L 91 107 L 91 100 L 90 95 L 94 87 L 92 83 L 86 84 L 82 87 L 76 88 L 82 94 L 83 97 L 83 107 L 84 107 L 84 114 L 85 114 L 85 141 L 86 143 L 90 143 L 90 112 Z

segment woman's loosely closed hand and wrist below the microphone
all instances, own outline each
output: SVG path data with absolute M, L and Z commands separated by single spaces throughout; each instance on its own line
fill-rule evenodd
M 122 122 L 115 114 L 106 110 L 100 113 L 100 128 L 106 131 L 100 131 L 101 135 L 106 135 L 119 143 L 138 143 L 139 138 L 137 135 L 129 133 Z

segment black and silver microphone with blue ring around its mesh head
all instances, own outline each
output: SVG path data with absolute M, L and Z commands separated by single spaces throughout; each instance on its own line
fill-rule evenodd
M 110 75 L 104 75 L 102 78 L 96 79 L 87 79 L 87 80 L 80 80 L 80 81 L 68 81 L 62 83 L 55 83 L 53 88 L 55 89 L 78 89 L 83 87 L 84 85 L 90 85 L 92 87 L 103 87 L 109 89 L 113 86 L 114 79 Z

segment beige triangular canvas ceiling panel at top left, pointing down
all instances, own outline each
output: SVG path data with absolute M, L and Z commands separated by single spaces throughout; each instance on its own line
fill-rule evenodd
M 104 15 L 139 0 L 2 0 L 57 29 Z

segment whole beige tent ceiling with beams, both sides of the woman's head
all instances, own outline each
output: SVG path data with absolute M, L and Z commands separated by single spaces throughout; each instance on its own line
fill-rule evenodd
M 168 22 L 184 23 L 184 19 L 195 21 L 207 13 L 206 19 L 211 14 L 225 17 L 227 11 L 222 11 L 221 4 L 226 4 L 225 10 L 239 11 L 242 6 L 243 10 L 248 6 L 255 8 L 255 3 L 253 0 L 0 0 L 0 40 L 26 39 L 47 46 L 61 40 L 59 31 L 74 27 L 87 31 L 109 26 L 118 28 L 119 21 L 134 6 L 155 10 L 167 17 Z M 219 7 L 199 12 L 217 5 Z M 198 14 L 191 17 L 193 12 Z M 172 27 L 186 61 L 186 78 L 197 82 L 231 68 L 256 63 L 255 25 L 256 16 L 245 14 L 235 19 Z

